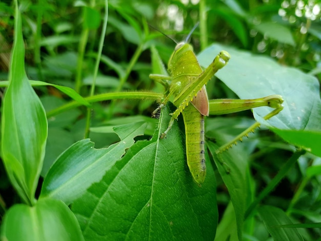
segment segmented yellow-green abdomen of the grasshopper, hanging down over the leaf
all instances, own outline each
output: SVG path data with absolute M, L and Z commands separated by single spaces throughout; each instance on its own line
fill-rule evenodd
M 195 182 L 201 185 L 206 175 L 204 116 L 191 103 L 182 114 L 185 125 L 187 165 Z

